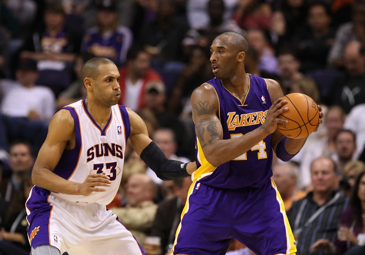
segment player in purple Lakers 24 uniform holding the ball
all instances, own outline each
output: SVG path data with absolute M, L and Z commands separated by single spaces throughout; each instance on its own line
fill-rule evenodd
M 210 48 L 216 78 L 192 93 L 197 170 L 172 254 L 223 255 L 231 238 L 258 255 L 296 252 L 271 164 L 273 151 L 288 161 L 306 138 L 276 130 L 287 123 L 278 118 L 288 110 L 283 92 L 276 81 L 245 73 L 247 48 L 241 34 L 216 37 Z

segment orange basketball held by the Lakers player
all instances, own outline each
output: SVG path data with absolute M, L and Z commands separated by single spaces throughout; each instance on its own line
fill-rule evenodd
M 283 107 L 289 110 L 280 114 L 279 118 L 286 119 L 288 123 L 278 123 L 277 129 L 284 136 L 300 139 L 309 136 L 319 122 L 319 110 L 316 102 L 307 95 L 291 93 L 283 97 L 287 103 Z

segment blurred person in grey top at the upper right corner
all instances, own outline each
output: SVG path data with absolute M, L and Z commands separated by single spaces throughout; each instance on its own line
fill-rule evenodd
M 357 0 L 352 3 L 352 21 L 341 25 L 336 32 L 334 44 L 328 55 L 329 66 L 346 67 L 345 48 L 353 40 L 365 45 L 365 3 Z

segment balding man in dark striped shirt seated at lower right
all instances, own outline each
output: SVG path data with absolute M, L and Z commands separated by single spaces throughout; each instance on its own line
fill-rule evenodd
M 311 164 L 313 191 L 293 203 L 287 212 L 300 255 L 323 255 L 331 251 L 311 247 L 319 239 L 334 242 L 337 225 L 349 200 L 338 190 L 339 176 L 330 157 Z

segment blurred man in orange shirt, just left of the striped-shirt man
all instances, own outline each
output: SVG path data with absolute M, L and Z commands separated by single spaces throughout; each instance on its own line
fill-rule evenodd
M 272 179 L 283 199 L 285 211 L 292 207 L 294 201 L 307 195 L 306 192 L 297 189 L 298 170 L 298 167 L 290 162 L 276 164 L 272 168 Z

